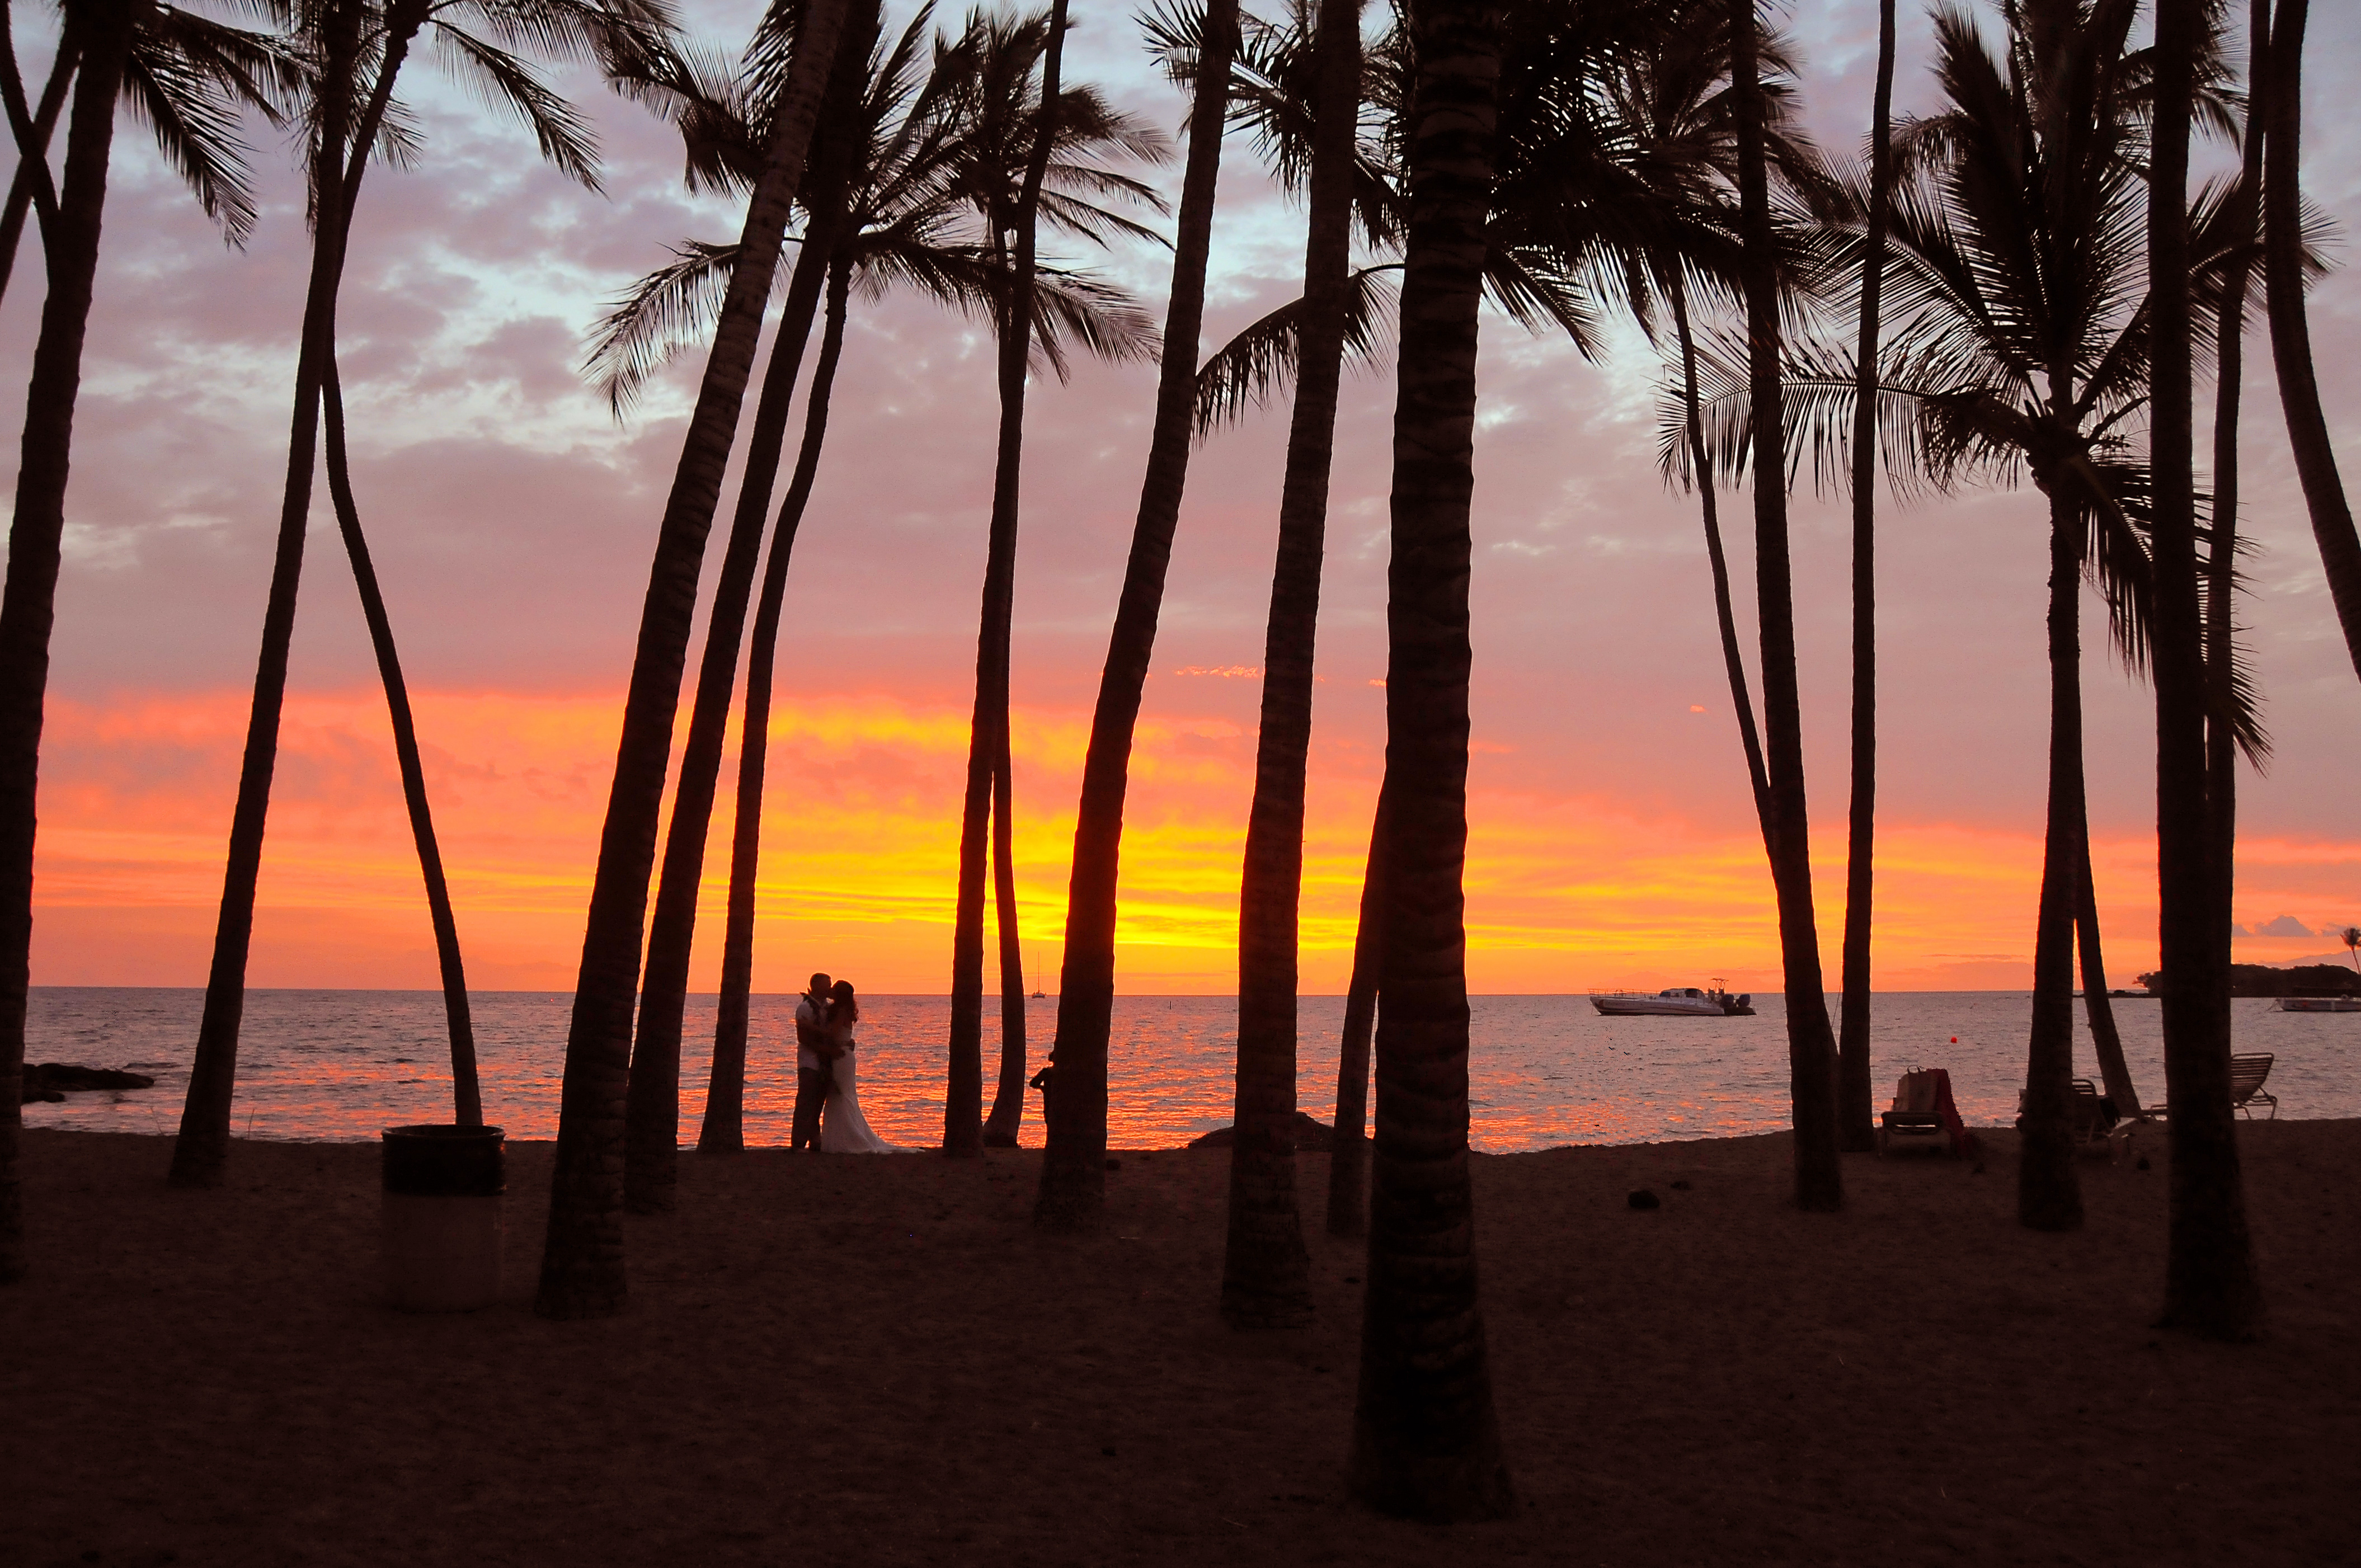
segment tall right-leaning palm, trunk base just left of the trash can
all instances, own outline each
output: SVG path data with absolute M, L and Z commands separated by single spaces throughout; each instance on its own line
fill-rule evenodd
M 246 1011 L 246 956 L 255 926 L 255 883 L 269 817 L 272 772 L 279 760 L 279 716 L 286 704 L 288 649 L 295 638 L 295 593 L 302 579 L 305 529 L 319 446 L 321 387 L 335 354 L 335 300 L 345 276 L 345 246 L 361 175 L 382 144 L 401 146 L 399 118 L 390 130 L 394 85 L 411 45 L 425 35 L 437 57 L 463 80 L 515 111 L 543 153 L 569 177 L 597 187 L 588 128 L 508 45 L 536 45 L 557 57 L 614 59 L 640 47 L 666 24 L 654 0 L 319 0 L 295 17 L 297 40 L 312 64 L 307 102 L 307 165 L 312 175 L 312 276 L 305 290 L 295 359 L 295 413 L 279 510 L 279 548 L 262 614 L 262 654 L 255 668 L 246 756 L 229 827 L 222 912 L 212 937 L 212 968 L 198 1020 L 196 1060 L 170 1181 L 179 1188 L 222 1183 L 229 1157 L 229 1105 L 236 1091 L 238 1023 Z M 472 28 L 472 31 L 470 31 Z

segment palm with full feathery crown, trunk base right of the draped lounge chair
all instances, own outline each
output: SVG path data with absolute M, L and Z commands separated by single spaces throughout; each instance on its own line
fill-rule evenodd
M 2146 406 L 2151 319 L 2141 276 L 2149 59 L 2127 47 L 2132 17 L 2132 0 L 2023 0 L 2007 12 L 1995 59 L 1967 14 L 1936 14 L 1948 106 L 1901 139 L 1915 177 L 1896 191 L 1889 220 L 1905 326 L 1879 375 L 1879 425 L 1898 472 L 1938 484 L 2030 472 L 2049 501 L 2049 829 L 2019 1204 L 2026 1223 L 2061 1228 L 2080 1209 L 2066 1136 L 2075 926 L 2094 940 L 2089 914 L 2078 921 L 2087 860 L 2078 590 L 2089 571 L 2118 647 L 2139 668 L 2151 581 L 2146 465 L 2123 432 Z M 2208 116 L 2219 111 L 2210 97 Z M 2193 210 L 2205 298 L 2236 255 L 2224 210 L 2222 189 Z M 1799 439 L 1832 463 L 1853 427 L 1856 366 L 1806 345 L 1790 359 L 1787 385 Z M 1740 439 L 1735 404 L 1733 394 L 1716 409 L 1721 449 Z M 2243 680 L 2234 685 L 2245 692 Z M 2250 756 L 2264 751 L 2252 706 L 2224 723 Z

